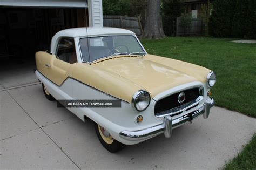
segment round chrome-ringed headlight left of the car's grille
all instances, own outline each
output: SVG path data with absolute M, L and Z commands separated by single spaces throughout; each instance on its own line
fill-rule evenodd
M 146 110 L 147 106 L 150 104 L 150 94 L 147 91 L 139 90 L 132 98 L 132 107 L 137 111 Z

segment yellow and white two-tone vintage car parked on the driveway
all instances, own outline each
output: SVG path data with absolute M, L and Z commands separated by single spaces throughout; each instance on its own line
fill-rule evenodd
M 119 100 L 119 108 L 72 107 L 95 122 L 110 152 L 172 130 L 214 105 L 216 75 L 204 67 L 147 54 L 136 35 L 117 28 L 59 31 L 36 53 L 36 76 L 49 100 Z

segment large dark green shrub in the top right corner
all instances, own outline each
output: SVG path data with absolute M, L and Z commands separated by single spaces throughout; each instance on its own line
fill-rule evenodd
M 256 1 L 214 1 L 209 32 L 214 37 L 256 38 Z

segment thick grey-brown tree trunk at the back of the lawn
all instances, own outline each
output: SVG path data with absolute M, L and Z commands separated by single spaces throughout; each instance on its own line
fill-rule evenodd
M 162 19 L 160 16 L 160 0 L 147 0 L 146 23 L 142 38 L 164 38 Z

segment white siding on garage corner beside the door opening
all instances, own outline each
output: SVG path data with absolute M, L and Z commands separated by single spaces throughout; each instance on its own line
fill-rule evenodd
M 89 24 L 94 27 L 103 26 L 102 0 L 89 0 Z

